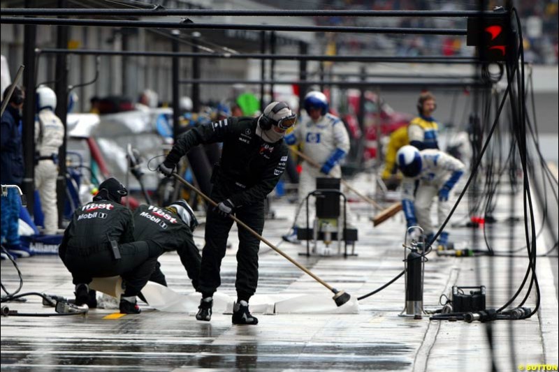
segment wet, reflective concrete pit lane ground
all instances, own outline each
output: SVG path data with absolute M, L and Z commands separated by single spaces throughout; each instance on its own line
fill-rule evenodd
M 368 179 L 356 185 L 365 191 Z M 352 198 L 353 199 L 353 198 Z M 521 211 L 517 199 L 516 211 Z M 509 196 L 498 204 L 493 232 L 495 251 L 524 245 L 523 224 L 511 229 Z M 398 215 L 377 228 L 368 216 L 370 207 L 351 203 L 360 240 L 358 256 L 300 256 L 304 246 L 282 243 L 279 248 L 335 288 L 361 296 L 383 285 L 403 269 L 403 217 Z M 278 219 L 266 223 L 264 236 L 279 242 L 293 217 L 293 204 L 273 206 Z M 517 213 L 518 213 L 517 212 Z M 460 225 L 467 204 L 457 209 L 451 222 Z M 536 218 L 541 221 L 541 218 Z M 538 222 L 539 223 L 539 222 Z M 450 229 L 456 244 L 483 248 L 481 229 Z M 202 232 L 197 232 L 202 234 Z M 512 236 L 511 236 L 512 235 Z M 491 236 L 491 235 L 490 235 Z M 511 240 L 512 239 L 512 240 Z M 538 249 L 549 247 L 542 234 Z M 197 241 L 202 244 L 200 239 Z M 235 296 L 236 233 L 233 248 L 222 265 L 219 289 Z M 396 281 L 377 295 L 363 299 L 357 314 L 291 313 L 258 315 L 259 325 L 231 325 L 231 315 L 215 313 L 211 322 L 198 322 L 191 313 L 163 313 L 141 304 L 140 315 L 108 319 L 114 310 L 91 310 L 85 316 L 1 318 L 1 369 L 6 371 L 518 371 L 528 364 L 558 364 L 558 299 L 551 263 L 554 257 L 537 260 L 542 303 L 537 316 L 528 320 L 474 322 L 430 321 L 401 318 L 404 280 Z M 521 250 L 516 253 L 525 255 Z M 452 285 L 486 285 L 487 306 L 498 308 L 518 288 L 528 260 L 524 257 L 449 258 L 430 254 L 426 262 L 424 304 L 440 308 L 439 298 Z M 553 261 L 555 260 L 555 261 Z M 174 253 L 161 258 L 168 285 L 192 292 L 188 278 Z M 266 246 L 261 247 L 257 295 L 296 293 L 331 296 L 331 293 Z M 59 258 L 35 256 L 18 260 L 24 279 L 22 292 L 48 292 L 72 297 L 73 285 Z M 17 288 L 17 274 L 9 262 L 1 262 L 3 285 Z M 523 292 L 525 293 L 525 292 Z M 521 296 L 523 297 L 523 296 Z M 520 303 L 520 299 L 514 302 Z M 4 304 L 3 304 L 4 305 Z M 8 306 L 20 313 L 52 313 L 39 297 Z M 525 306 L 535 306 L 535 292 Z M 488 343 L 493 340 L 493 348 Z M 493 351 L 492 351 L 493 350 Z

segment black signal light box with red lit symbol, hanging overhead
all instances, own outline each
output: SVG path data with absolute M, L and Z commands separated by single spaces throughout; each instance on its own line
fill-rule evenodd
M 512 35 L 508 11 L 500 9 L 467 19 L 466 44 L 478 47 L 481 61 L 504 62 L 512 58 L 516 54 Z

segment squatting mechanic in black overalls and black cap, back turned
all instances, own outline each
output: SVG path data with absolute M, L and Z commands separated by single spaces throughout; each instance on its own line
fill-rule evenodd
M 89 292 L 92 278 L 122 276 L 125 290 L 120 312 L 140 313 L 136 296 L 152 275 L 163 250 L 150 241 L 134 241 L 131 211 L 120 204 L 126 188 L 114 178 L 99 185 L 93 201 L 74 211 L 59 247 L 59 256 L 75 284 L 75 304 L 96 307 Z

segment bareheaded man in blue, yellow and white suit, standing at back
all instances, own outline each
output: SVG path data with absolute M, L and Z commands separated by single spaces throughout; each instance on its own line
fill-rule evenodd
M 407 127 L 409 144 L 419 149 L 438 149 L 437 142 L 439 126 L 433 119 L 433 111 L 437 108 L 435 96 L 428 91 L 419 95 L 417 100 L 417 111 L 419 116 L 412 119 Z

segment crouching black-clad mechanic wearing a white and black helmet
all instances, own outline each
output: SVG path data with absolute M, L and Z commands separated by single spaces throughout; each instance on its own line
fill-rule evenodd
M 194 244 L 192 232 L 198 226 L 198 220 L 186 200 L 177 200 L 164 208 L 143 204 L 134 210 L 133 216 L 134 239 L 153 242 L 164 252 L 177 251 L 196 289 L 202 258 Z M 167 286 L 160 267 L 158 261 L 150 281 Z

